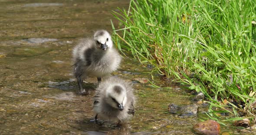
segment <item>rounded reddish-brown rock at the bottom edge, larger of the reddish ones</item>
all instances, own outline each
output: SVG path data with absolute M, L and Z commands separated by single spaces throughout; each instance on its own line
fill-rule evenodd
M 219 135 L 220 124 L 214 120 L 208 119 L 207 121 L 197 123 L 194 125 L 193 129 L 198 134 Z

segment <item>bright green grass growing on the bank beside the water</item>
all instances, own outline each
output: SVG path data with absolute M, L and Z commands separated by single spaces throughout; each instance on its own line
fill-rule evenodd
M 120 50 L 204 93 L 210 117 L 255 117 L 255 0 L 131 0 L 119 10 Z

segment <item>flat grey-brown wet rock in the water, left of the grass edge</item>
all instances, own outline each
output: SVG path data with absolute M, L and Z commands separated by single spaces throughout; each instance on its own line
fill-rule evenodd
M 177 114 L 181 116 L 191 116 L 196 115 L 198 110 L 198 105 L 186 105 L 186 106 L 178 106 L 173 103 L 171 103 L 168 106 L 168 111 L 172 114 Z

